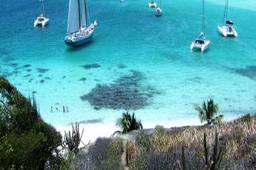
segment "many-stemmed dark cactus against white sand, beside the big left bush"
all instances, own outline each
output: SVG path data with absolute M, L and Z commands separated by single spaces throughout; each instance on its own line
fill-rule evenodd
M 84 129 L 82 129 L 82 134 L 84 132 Z M 79 152 L 79 144 L 82 139 L 82 134 L 79 133 L 79 123 L 76 123 L 76 128 L 74 128 L 72 124 L 72 132 L 68 131 L 65 132 L 64 135 L 64 144 L 65 146 L 68 146 L 68 149 L 71 152 L 74 152 L 74 154 L 77 154 Z

